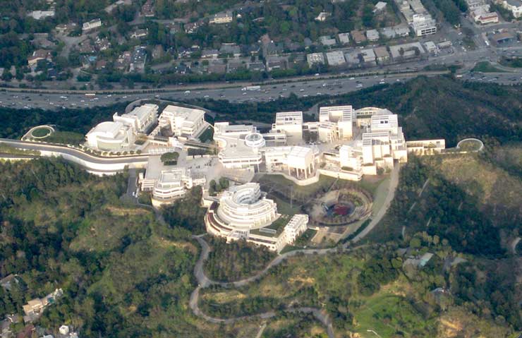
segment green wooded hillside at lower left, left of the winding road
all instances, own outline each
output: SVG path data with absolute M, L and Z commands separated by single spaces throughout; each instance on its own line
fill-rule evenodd
M 67 322 L 82 337 L 223 337 L 188 308 L 198 247 L 188 231 L 122 204 L 125 175 L 58 159 L 0 162 L 0 171 L 0 277 L 20 281 L 0 288 L 1 315 L 61 288 L 37 322 L 49 330 Z

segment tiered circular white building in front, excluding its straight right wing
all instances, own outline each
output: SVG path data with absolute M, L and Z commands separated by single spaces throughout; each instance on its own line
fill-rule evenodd
M 273 200 L 265 198 L 258 183 L 233 186 L 210 206 L 205 224 L 216 236 L 248 236 L 250 230 L 272 224 L 279 214 Z

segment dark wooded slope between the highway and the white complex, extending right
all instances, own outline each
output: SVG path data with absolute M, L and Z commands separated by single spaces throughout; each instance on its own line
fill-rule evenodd
M 263 103 L 231 104 L 225 100 L 196 100 L 193 103 L 217 111 L 216 121 L 267 123 L 273 121 L 277 111 L 305 111 L 314 104 L 352 104 L 355 109 L 381 107 L 399 114 L 407 140 L 444 138 L 448 146 L 454 146 L 461 138 L 471 136 L 488 135 L 502 142 L 522 138 L 520 87 L 465 83 L 451 76 L 419 76 L 406 83 L 378 85 L 346 95 L 291 95 Z

